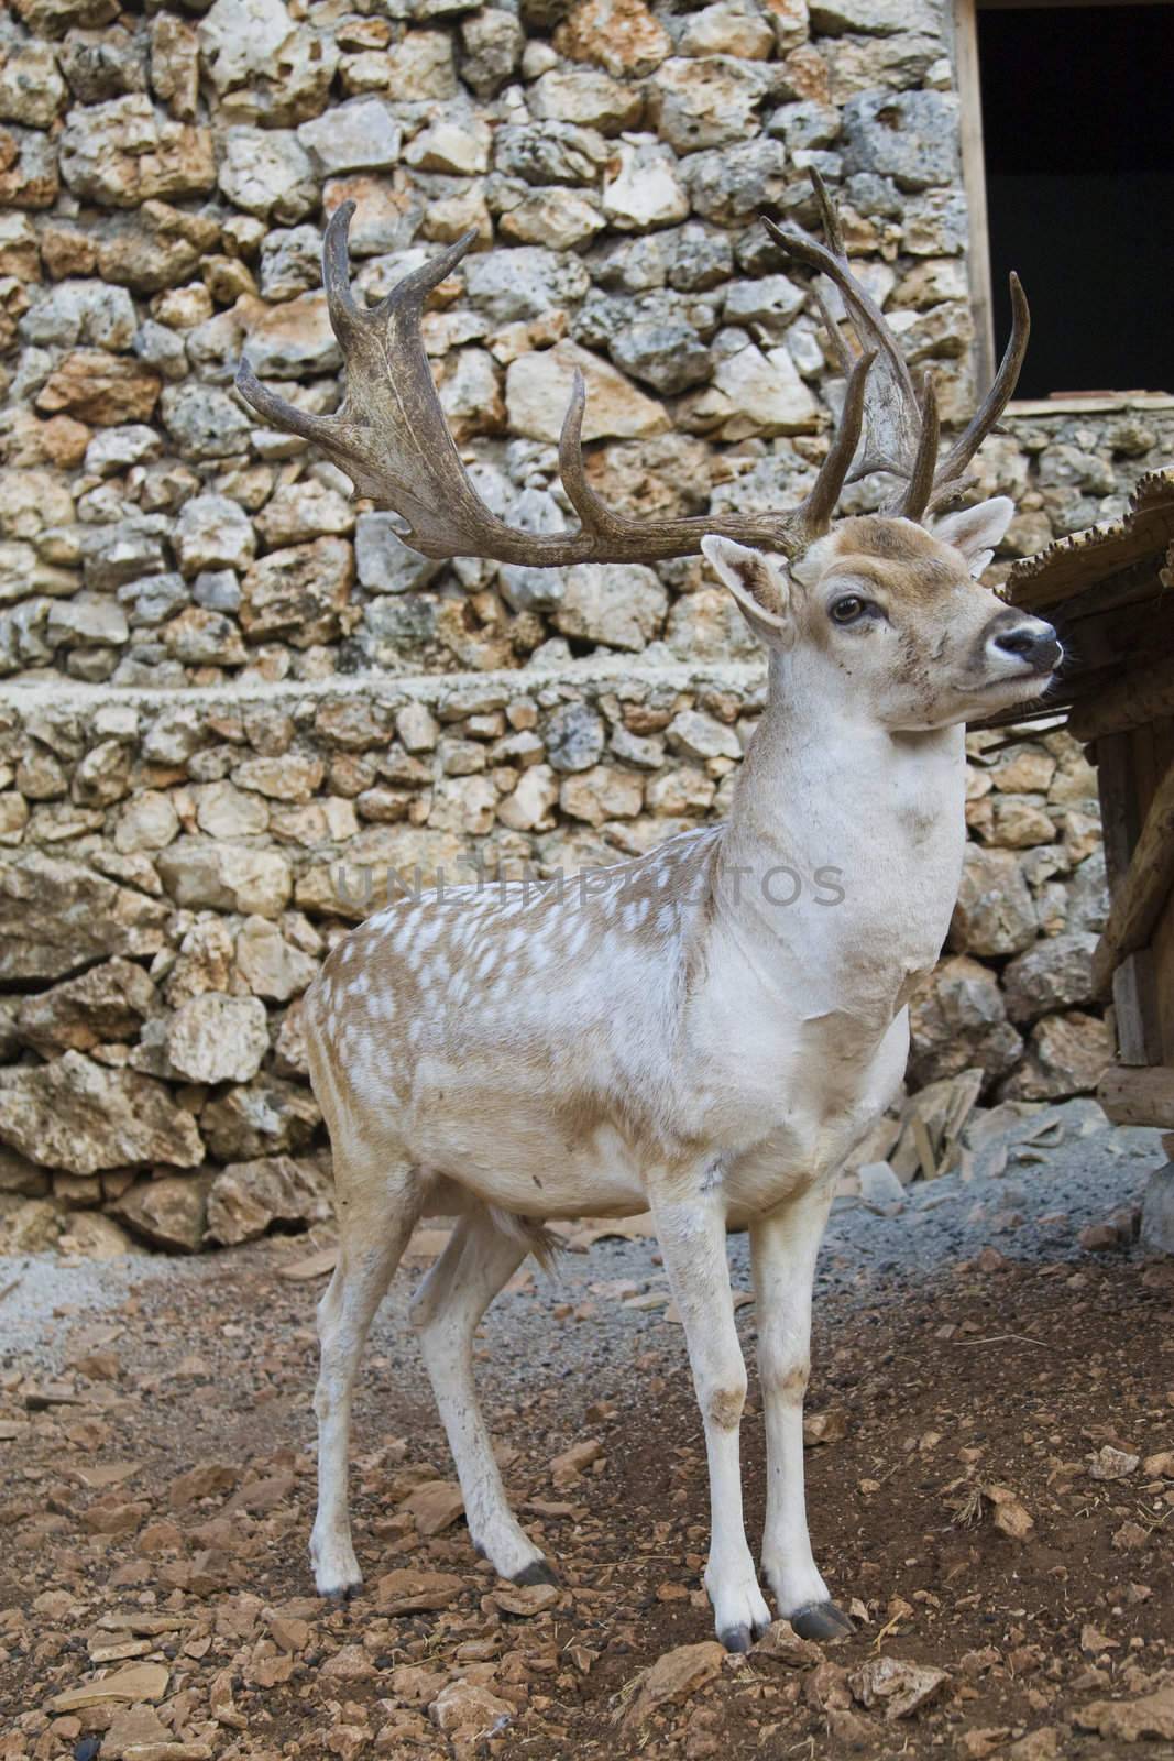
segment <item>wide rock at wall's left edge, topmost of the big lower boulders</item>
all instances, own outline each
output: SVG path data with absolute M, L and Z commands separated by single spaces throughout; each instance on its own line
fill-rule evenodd
M 0 866 L 0 979 L 56 979 L 111 954 L 151 956 L 167 910 L 83 863 L 39 852 Z

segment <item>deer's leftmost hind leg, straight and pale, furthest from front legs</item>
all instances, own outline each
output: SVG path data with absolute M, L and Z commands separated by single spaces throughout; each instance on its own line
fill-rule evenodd
M 363 1573 L 350 1541 L 347 1479 L 350 1405 L 359 1358 L 421 1210 L 419 1178 L 407 1162 L 387 1168 L 366 1153 L 334 1150 L 338 1264 L 319 1303 L 319 1513 L 310 1562 L 319 1595 L 345 1597 Z

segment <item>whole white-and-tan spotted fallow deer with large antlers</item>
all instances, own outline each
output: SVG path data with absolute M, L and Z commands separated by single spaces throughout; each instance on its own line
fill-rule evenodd
M 836 1175 L 898 1094 L 908 1002 L 949 930 L 965 847 L 965 724 L 1040 697 L 1054 629 L 984 572 L 1014 514 L 952 507 L 1014 393 L 1028 306 L 945 458 L 921 386 L 850 266 L 813 178 L 822 238 L 766 225 L 810 273 L 843 377 L 838 426 L 787 511 L 639 521 L 588 483 L 576 380 L 560 472 L 577 530 L 523 532 L 477 495 L 421 342 L 428 294 L 468 232 L 371 308 L 350 289 L 352 203 L 329 220 L 324 284 L 347 379 L 334 416 L 290 407 L 245 359 L 243 398 L 313 442 L 426 556 L 505 564 L 704 555 L 766 650 L 766 706 L 729 819 L 597 872 L 570 895 L 502 880 L 396 898 L 345 933 L 305 995 L 329 1129 L 338 1261 L 319 1305 L 317 1590 L 361 1587 L 349 1516 L 350 1409 L 368 1328 L 424 1215 L 454 1219 L 410 1305 L 470 1539 L 514 1583 L 558 1581 L 510 1511 L 473 1386 L 473 1333 L 560 1219 L 651 1213 L 683 1321 L 709 1474 L 704 1587 L 741 1652 L 778 1617 L 852 1631 L 808 1536 L 803 1402 L 815 1261 Z M 840 296 L 833 313 L 824 278 Z M 847 328 L 847 335 L 845 335 Z M 875 512 L 836 519 L 848 474 L 889 474 Z M 781 909 L 780 868 L 827 865 L 831 896 Z M 760 1571 L 746 1541 L 746 1367 L 727 1231 L 750 1233 L 766 1426 Z

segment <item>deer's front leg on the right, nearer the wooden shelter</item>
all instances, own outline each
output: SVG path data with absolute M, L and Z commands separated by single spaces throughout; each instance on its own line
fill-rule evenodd
M 750 1231 L 759 1317 L 759 1381 L 766 1412 L 762 1576 L 778 1611 L 804 1639 L 852 1632 L 811 1557 L 803 1495 L 803 1396 L 811 1370 L 811 1286 L 831 1205 L 815 1187 Z

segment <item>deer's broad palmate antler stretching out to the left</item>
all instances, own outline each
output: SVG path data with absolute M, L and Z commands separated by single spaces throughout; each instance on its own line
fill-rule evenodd
M 426 556 L 491 556 L 556 567 L 576 562 L 653 562 L 690 556 L 708 534 L 797 555 L 827 530 L 861 438 L 864 389 L 875 356 L 848 366 L 840 426 L 818 477 L 797 507 L 766 514 L 704 514 L 688 519 L 628 519 L 613 512 L 586 481 L 583 410 L 576 375 L 558 447 L 577 532 L 521 532 L 498 519 L 473 490 L 444 417 L 421 340 L 424 299 L 473 243 L 466 232 L 449 250 L 407 275 L 371 310 L 350 292 L 347 232 L 354 203 L 341 203 L 326 229 L 322 280 L 331 326 L 347 363 L 347 394 L 336 416 L 308 416 L 260 384 L 241 361 L 236 386 L 275 428 L 313 440 L 354 479 L 359 495 L 408 521 L 405 539 Z

